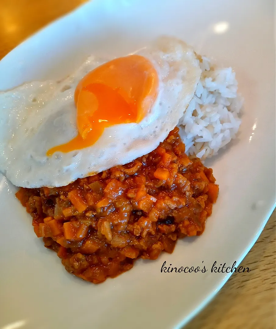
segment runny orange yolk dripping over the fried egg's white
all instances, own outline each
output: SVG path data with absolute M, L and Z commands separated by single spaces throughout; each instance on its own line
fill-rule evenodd
M 47 156 L 91 146 L 115 124 L 139 123 L 156 100 L 158 87 L 158 73 L 143 56 L 121 57 L 95 68 L 75 90 L 78 135 L 49 149 Z

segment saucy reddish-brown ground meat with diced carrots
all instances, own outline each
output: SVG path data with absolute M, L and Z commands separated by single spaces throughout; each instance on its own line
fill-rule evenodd
M 218 185 L 212 169 L 185 154 L 178 128 L 151 153 L 60 188 L 16 193 L 34 231 L 66 270 L 93 283 L 138 257 L 172 253 L 177 238 L 202 234 Z

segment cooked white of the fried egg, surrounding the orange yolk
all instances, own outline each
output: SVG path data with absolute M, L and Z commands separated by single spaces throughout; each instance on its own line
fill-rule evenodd
M 95 144 L 68 153 L 48 149 L 77 134 L 74 91 L 95 67 L 111 60 L 89 57 L 61 82 L 26 83 L 0 93 L 0 171 L 16 186 L 59 187 L 77 178 L 125 164 L 154 150 L 177 125 L 200 79 L 191 47 L 161 37 L 136 54 L 148 58 L 159 75 L 158 97 L 140 123 L 106 128 Z

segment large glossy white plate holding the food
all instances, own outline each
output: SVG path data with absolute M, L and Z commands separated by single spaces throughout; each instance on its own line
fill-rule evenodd
M 220 22 L 227 24 L 216 25 Z M 223 26 L 224 33 L 215 33 Z M 238 139 L 207 163 L 220 194 L 204 234 L 179 241 L 172 255 L 139 260 L 115 279 L 89 284 L 68 274 L 57 255 L 44 248 L 14 197 L 15 188 L 3 177 L 2 329 L 179 328 L 229 278 L 211 273 L 213 262 L 239 263 L 262 231 L 275 203 L 272 1 L 95 0 L 6 56 L 0 62 L 0 89 L 63 77 L 90 53 L 125 55 L 160 34 L 183 38 L 218 63 L 231 65 L 245 97 Z M 177 267 L 202 267 L 204 261 L 208 271 L 161 273 L 164 261 Z

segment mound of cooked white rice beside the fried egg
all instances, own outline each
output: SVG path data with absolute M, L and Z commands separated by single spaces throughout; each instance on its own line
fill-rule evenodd
M 204 160 L 234 139 L 241 120 L 243 99 L 231 67 L 217 68 L 198 57 L 202 74 L 195 95 L 179 120 L 179 134 L 191 157 Z

